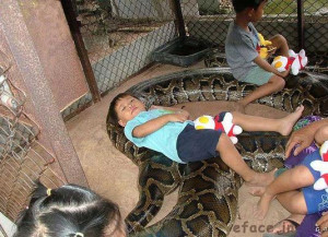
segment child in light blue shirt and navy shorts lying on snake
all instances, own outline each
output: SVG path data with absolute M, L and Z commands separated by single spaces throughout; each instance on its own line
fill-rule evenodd
M 233 123 L 246 131 L 274 131 L 288 135 L 304 107 L 281 119 L 269 119 L 232 112 Z M 189 112 L 172 107 L 152 106 L 149 110 L 134 96 L 121 93 L 109 107 L 113 125 L 125 127 L 126 137 L 137 146 L 163 153 L 177 163 L 197 162 L 220 154 L 222 161 L 250 186 L 266 186 L 273 180 L 273 171 L 260 174 L 250 169 L 221 130 L 196 130 L 188 120 Z

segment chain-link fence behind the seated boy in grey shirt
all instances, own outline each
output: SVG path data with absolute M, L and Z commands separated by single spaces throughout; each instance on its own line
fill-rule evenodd
M 183 0 L 194 5 L 192 12 L 184 13 L 187 34 L 209 42 L 220 52 L 224 52 L 224 42 L 230 23 L 235 13 L 231 0 Z M 300 14 L 295 0 L 268 0 L 263 17 L 255 24 L 266 39 L 276 34 L 283 35 L 290 48 L 300 50 L 298 42 L 309 57 L 309 64 L 327 68 L 328 51 L 328 4 L 327 0 L 302 0 L 304 38 L 298 34 Z

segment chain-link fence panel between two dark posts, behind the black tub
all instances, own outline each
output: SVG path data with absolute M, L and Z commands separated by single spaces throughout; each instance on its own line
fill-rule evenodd
M 101 94 L 150 63 L 150 52 L 176 36 L 167 0 L 73 3 Z

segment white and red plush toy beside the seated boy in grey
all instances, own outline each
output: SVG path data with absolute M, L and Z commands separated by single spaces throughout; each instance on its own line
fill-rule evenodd
M 307 64 L 307 57 L 305 50 L 302 49 L 298 54 L 289 50 L 289 57 L 278 56 L 273 59 L 272 66 L 279 71 L 284 72 L 291 67 L 291 73 L 297 75 L 300 70 L 304 69 Z

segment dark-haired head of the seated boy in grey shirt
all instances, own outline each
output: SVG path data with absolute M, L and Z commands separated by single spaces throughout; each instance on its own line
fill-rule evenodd
M 234 10 L 237 14 L 246 13 L 256 16 L 255 20 L 259 20 L 263 14 L 263 7 L 267 0 L 232 0 Z M 254 20 L 254 21 L 255 21 Z

